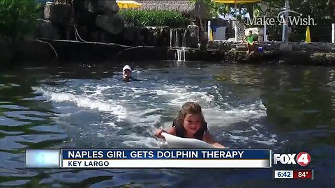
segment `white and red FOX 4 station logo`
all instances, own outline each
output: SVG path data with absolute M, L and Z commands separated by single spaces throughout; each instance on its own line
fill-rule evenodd
M 300 166 L 307 166 L 311 162 L 311 155 L 308 152 L 299 152 L 297 155 L 297 162 L 295 161 L 296 154 L 274 154 L 274 164 L 281 162 L 281 164 L 299 164 Z

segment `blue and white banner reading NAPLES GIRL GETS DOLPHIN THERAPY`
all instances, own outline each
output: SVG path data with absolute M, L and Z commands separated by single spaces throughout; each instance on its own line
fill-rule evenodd
M 27 168 L 271 168 L 268 149 L 27 150 Z

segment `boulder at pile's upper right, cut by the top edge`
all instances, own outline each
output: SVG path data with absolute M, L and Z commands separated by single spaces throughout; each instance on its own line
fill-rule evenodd
M 117 6 L 117 2 L 114 0 L 95 0 L 92 1 L 92 7 L 94 13 L 98 14 L 117 13 L 119 11 L 119 6 Z

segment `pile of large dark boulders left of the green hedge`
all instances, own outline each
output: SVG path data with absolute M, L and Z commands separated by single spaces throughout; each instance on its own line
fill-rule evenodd
M 43 19 L 38 20 L 36 38 L 94 41 L 103 36 L 105 40 L 105 36 L 117 35 L 124 29 L 124 19 L 117 15 L 119 6 L 114 0 L 75 0 L 73 7 L 72 3 L 47 2 Z M 77 38 L 73 17 L 80 36 Z

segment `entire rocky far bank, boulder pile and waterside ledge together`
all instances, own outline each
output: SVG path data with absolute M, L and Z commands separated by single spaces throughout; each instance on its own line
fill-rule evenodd
M 86 4 L 46 3 L 35 36 L 8 45 L 0 39 L 0 66 L 71 61 L 215 61 L 335 65 L 335 44 L 260 42 L 260 52 L 246 54 L 239 42 L 208 40 L 195 25 L 184 28 L 124 26 L 116 1 Z M 74 16 L 75 15 L 75 16 Z M 77 26 L 70 22 L 73 17 Z M 80 37 L 82 36 L 82 38 Z M 87 42 L 95 41 L 95 42 Z

